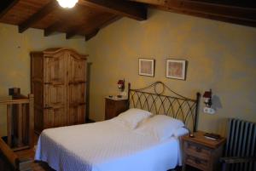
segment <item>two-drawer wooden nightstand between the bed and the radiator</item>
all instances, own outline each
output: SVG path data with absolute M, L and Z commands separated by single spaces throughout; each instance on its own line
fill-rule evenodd
M 225 139 L 208 140 L 203 134 L 198 131 L 194 138 L 183 136 L 183 171 L 186 165 L 203 171 L 220 170 L 219 157 L 222 156 Z

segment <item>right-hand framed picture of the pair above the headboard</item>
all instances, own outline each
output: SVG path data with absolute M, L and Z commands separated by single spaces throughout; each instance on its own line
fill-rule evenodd
M 186 60 L 166 60 L 166 77 L 185 80 Z

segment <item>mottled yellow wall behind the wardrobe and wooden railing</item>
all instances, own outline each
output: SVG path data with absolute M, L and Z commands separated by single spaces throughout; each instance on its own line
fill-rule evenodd
M 30 55 L 34 50 L 67 47 L 85 52 L 84 38 L 66 40 L 64 34 L 44 37 L 44 31 L 29 29 L 18 33 L 17 26 L 0 23 L 0 100 L 8 97 L 8 88 L 30 92 Z M 0 135 L 6 134 L 6 108 L 0 105 Z

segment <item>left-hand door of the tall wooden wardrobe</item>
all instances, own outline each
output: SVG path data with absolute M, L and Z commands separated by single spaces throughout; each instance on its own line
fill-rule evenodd
M 66 54 L 44 58 L 44 128 L 67 124 Z

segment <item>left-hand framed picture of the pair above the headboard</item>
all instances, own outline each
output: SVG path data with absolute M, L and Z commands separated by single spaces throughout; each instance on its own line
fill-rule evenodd
M 154 77 L 154 60 L 139 58 L 139 75 Z

